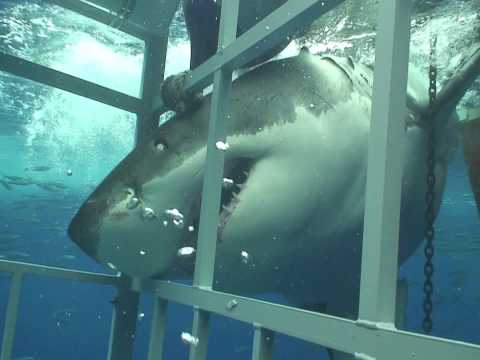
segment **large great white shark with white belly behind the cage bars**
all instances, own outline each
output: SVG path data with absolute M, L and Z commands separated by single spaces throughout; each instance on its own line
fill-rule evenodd
M 409 71 L 399 263 L 423 238 L 427 129 L 435 128 L 438 213 L 457 147 L 455 106 L 476 62 L 444 86 L 429 118 L 428 90 Z M 300 55 L 234 81 L 228 116 L 214 288 L 276 292 L 355 318 L 364 220 L 373 71 L 349 58 Z M 449 96 L 442 96 L 442 94 Z M 188 278 L 204 175 L 210 97 L 158 127 L 103 180 L 68 232 L 88 255 L 132 277 Z

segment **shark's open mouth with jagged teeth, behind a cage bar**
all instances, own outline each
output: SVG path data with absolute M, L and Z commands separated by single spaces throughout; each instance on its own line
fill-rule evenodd
M 238 158 L 225 162 L 217 230 L 218 241 L 223 240 L 223 230 L 241 202 L 241 193 L 245 191 L 247 180 L 253 166 L 254 160 L 248 158 Z M 195 206 L 197 209 L 193 211 L 193 214 L 195 214 L 193 218 L 193 226 L 195 229 L 198 229 L 200 221 L 200 204 L 201 195 L 197 206 Z

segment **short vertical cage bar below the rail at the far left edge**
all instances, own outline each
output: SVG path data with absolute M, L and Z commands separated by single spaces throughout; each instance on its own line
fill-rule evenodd
M 12 357 L 22 281 L 23 274 L 21 272 L 14 272 L 10 284 L 10 293 L 8 294 L 7 315 L 3 330 L 2 352 L 0 353 L 0 360 L 10 360 Z

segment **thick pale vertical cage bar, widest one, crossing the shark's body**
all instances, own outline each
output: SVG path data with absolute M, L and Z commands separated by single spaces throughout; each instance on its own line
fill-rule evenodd
M 411 0 L 380 3 L 363 232 L 359 318 L 393 324 Z

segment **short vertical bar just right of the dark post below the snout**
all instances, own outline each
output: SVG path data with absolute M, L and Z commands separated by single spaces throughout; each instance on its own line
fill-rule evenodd
M 167 324 L 168 302 L 156 298 L 153 305 L 152 329 L 150 330 L 150 344 L 148 346 L 148 360 L 163 359 L 163 345 Z

